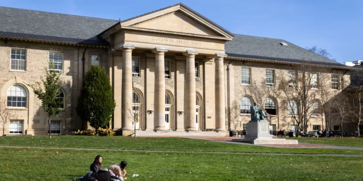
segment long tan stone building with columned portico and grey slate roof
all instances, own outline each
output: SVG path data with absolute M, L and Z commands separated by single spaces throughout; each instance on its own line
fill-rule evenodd
M 139 134 L 222 136 L 245 127 L 257 99 L 271 114 L 270 129 L 294 129 L 284 98 L 256 97 L 253 84 L 274 87 L 277 74 L 289 76 L 302 61 L 328 68 L 332 85 L 340 81 L 335 75 L 349 79 L 348 66 L 285 40 L 233 34 L 181 3 L 123 21 L 6 7 L 0 15 L 0 97 L 19 114 L 5 134 L 47 134 L 29 84 L 41 80 L 48 62 L 61 73 L 59 98 L 70 105 L 52 118 L 53 134 L 88 127 L 75 109 L 91 65 L 110 77 L 116 101 L 110 126 L 122 135 L 136 126 Z M 308 130 L 325 127 L 321 101 L 315 102 Z M 129 109 L 136 125 L 124 113 Z

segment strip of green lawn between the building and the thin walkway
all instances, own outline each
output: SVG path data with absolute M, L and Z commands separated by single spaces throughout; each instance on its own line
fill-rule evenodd
M 181 138 L 134 139 L 132 137 L 53 136 L 52 139 L 49 139 L 46 136 L 14 136 L 0 137 L 0 145 L 190 152 L 363 154 L 363 151 L 355 150 L 333 150 L 325 148 L 272 148 Z

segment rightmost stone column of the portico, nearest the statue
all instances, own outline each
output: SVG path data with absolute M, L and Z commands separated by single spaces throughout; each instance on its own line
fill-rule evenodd
M 215 57 L 215 131 L 226 130 L 225 77 L 223 58 L 226 54 L 217 53 Z

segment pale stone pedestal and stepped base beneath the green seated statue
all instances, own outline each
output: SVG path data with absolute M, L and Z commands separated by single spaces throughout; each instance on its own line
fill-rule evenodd
M 274 139 L 270 135 L 270 123 L 266 122 L 248 122 L 247 135 L 244 139 L 233 139 L 234 142 L 251 143 L 251 144 L 298 144 L 296 139 Z

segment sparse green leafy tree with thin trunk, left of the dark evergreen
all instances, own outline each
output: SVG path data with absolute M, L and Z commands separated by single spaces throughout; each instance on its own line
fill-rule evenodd
M 64 99 L 57 98 L 61 89 L 60 73 L 48 68 L 45 68 L 45 72 L 45 79 L 42 79 L 42 82 L 36 82 L 29 86 L 33 88 L 34 94 L 42 101 L 42 107 L 48 115 L 49 138 L 52 138 L 50 135 L 50 119 L 63 111 L 64 108 L 61 108 L 61 105 L 63 105 Z

